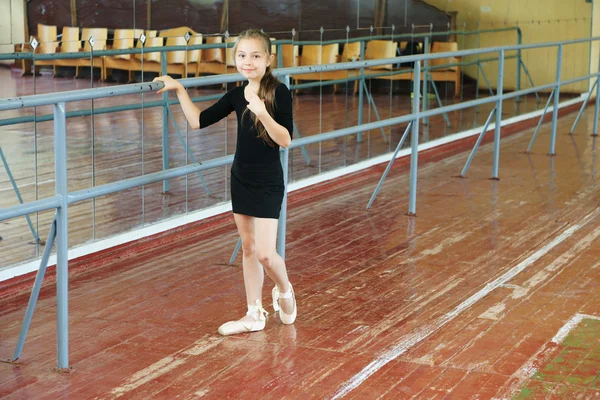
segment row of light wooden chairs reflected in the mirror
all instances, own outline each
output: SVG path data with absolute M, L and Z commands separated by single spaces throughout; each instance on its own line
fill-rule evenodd
M 107 28 L 83 28 L 64 27 L 59 39 L 57 27 L 38 24 L 36 40 L 40 43 L 36 54 L 70 53 L 70 52 L 89 52 L 91 47 L 88 39 L 94 38 L 93 50 L 105 49 L 132 49 L 142 47 L 138 38 L 146 36 L 144 49 L 156 48 L 162 46 L 184 46 L 186 44 L 185 34 L 191 35 L 188 45 L 198 44 L 216 44 L 223 43 L 222 36 L 206 36 L 194 32 L 188 27 L 179 27 L 166 29 L 162 31 L 144 31 L 142 29 L 115 29 L 112 38 L 112 45 L 107 45 Z M 275 40 L 275 38 L 272 38 Z M 234 42 L 236 37 L 228 37 L 227 42 Z M 83 46 L 82 46 L 83 44 Z M 406 47 L 407 42 L 394 42 L 391 40 L 371 40 L 366 43 L 365 59 L 374 60 L 381 58 L 393 58 L 397 56 L 398 49 Z M 360 59 L 360 43 L 350 42 L 347 44 L 328 44 L 328 45 L 281 45 L 282 61 L 284 67 L 300 65 L 319 65 L 330 64 L 342 61 L 354 61 Z M 340 53 L 340 48 L 342 51 Z M 23 49 L 26 51 L 26 49 Z M 434 42 L 429 49 L 430 52 L 448 52 L 458 50 L 456 42 Z M 31 49 L 29 49 L 31 51 Z M 196 49 L 186 51 L 169 51 L 167 57 L 167 73 L 181 76 L 200 76 L 203 74 L 220 74 L 235 72 L 235 61 L 232 54 L 232 48 L 214 48 L 214 49 Z M 277 52 L 274 45 L 272 52 Z M 186 54 L 187 53 L 187 54 Z M 301 53 L 301 55 L 300 55 Z M 99 68 L 101 79 L 105 80 L 112 74 L 112 70 L 124 70 L 129 74 L 129 80 L 134 80 L 134 73 L 137 71 L 161 72 L 161 54 L 160 52 L 145 52 L 144 54 L 123 54 L 114 56 L 102 56 L 93 58 L 71 58 L 71 59 L 52 59 L 37 60 L 35 62 L 36 72 L 41 66 L 52 66 L 56 74 L 57 67 L 71 66 L 75 67 L 75 74 L 79 75 L 79 69 Z M 456 57 L 431 60 L 431 67 L 458 63 Z M 275 57 L 277 67 L 277 56 Z M 23 66 L 24 71 L 27 66 Z M 406 72 L 403 72 L 406 70 Z M 413 73 L 409 68 L 397 67 L 395 65 L 383 65 L 374 68 L 367 68 L 364 73 L 367 78 L 370 75 L 381 75 L 383 71 L 393 72 L 376 76 L 375 79 L 389 80 L 412 80 Z M 445 67 L 433 69 L 429 72 L 435 81 L 454 82 L 455 94 L 460 91 L 460 66 Z M 338 80 L 349 76 L 356 76 L 358 71 L 327 71 L 318 73 L 309 73 L 294 75 L 295 81 L 312 80 Z M 355 81 L 355 91 L 357 89 Z

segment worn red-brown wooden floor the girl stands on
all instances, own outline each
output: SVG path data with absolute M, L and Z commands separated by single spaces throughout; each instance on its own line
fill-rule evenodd
M 70 363 L 56 365 L 53 277 L 15 399 L 597 399 L 600 197 L 593 110 L 503 138 L 500 180 L 483 146 L 425 152 L 417 217 L 408 160 L 365 210 L 384 166 L 290 196 L 287 263 L 298 319 L 223 338 L 244 312 L 227 215 L 71 263 Z M 27 282 L 0 291 L 0 356 L 15 346 Z M 264 287 L 267 303 L 271 283 Z M 272 307 L 267 306 L 272 312 Z

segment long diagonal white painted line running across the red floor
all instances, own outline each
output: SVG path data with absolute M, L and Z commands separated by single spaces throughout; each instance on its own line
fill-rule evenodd
M 331 397 L 331 400 L 340 399 L 350 393 L 352 390 L 360 386 L 365 380 L 367 380 L 371 375 L 375 374 L 381 367 L 386 365 L 388 362 L 398 358 L 400 355 L 406 353 L 415 345 L 419 344 L 429 336 L 431 336 L 434 332 L 439 330 L 441 327 L 452 321 L 454 318 L 459 316 L 469 307 L 477 303 L 479 300 L 483 299 L 494 289 L 501 287 L 506 284 L 506 282 L 510 281 L 517 274 L 522 272 L 525 268 L 536 262 L 543 255 L 548 253 L 554 247 L 558 246 L 560 243 L 568 239 L 575 232 L 583 228 L 586 224 L 592 221 L 594 218 L 598 216 L 600 213 L 600 208 L 597 208 L 590 214 L 586 215 L 581 223 L 573 225 L 569 229 L 565 230 L 558 237 L 552 240 L 550 243 L 546 244 L 544 247 L 527 257 L 525 260 L 521 261 L 519 264 L 508 270 L 505 274 L 500 276 L 498 279 L 492 281 L 485 285 L 483 289 L 469 297 L 467 300 L 460 303 L 454 310 L 444 315 L 443 317 L 438 318 L 435 322 L 418 328 L 416 332 L 410 333 L 407 337 L 398 343 L 391 350 L 386 351 L 384 354 L 379 356 L 377 359 L 372 361 L 369 365 L 363 368 L 358 374 L 354 375 L 349 381 L 344 383 L 340 389 Z

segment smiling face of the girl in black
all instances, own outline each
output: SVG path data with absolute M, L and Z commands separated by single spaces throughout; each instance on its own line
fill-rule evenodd
M 260 82 L 273 56 L 261 39 L 241 39 L 235 50 L 235 65 L 244 78 Z

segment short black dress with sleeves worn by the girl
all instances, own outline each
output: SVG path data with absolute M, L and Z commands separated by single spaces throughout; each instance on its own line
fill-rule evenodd
M 231 166 L 231 203 L 236 214 L 257 218 L 279 218 L 285 191 L 279 146 L 271 146 L 254 127 L 251 112 L 244 113 L 248 102 L 243 86 L 231 89 L 218 102 L 200 113 L 200 128 L 220 121 L 236 112 L 238 129 L 233 165 Z M 243 116 L 243 120 L 242 120 Z M 284 84 L 275 90 L 275 121 L 293 132 L 292 96 Z

